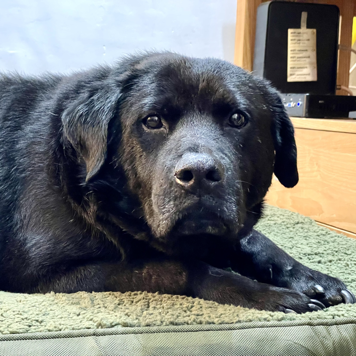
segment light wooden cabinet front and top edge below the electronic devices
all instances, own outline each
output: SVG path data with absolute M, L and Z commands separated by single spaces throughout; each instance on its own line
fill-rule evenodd
M 273 177 L 267 202 L 356 237 L 356 120 L 291 118 L 299 183 Z

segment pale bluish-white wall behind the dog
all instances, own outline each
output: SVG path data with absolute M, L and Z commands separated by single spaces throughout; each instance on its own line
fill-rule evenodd
M 169 49 L 233 61 L 236 0 L 1 0 L 0 70 L 70 72 Z

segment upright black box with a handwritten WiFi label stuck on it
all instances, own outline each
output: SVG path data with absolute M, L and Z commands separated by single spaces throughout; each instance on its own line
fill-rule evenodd
M 261 4 L 257 9 L 254 74 L 270 80 L 282 93 L 335 94 L 339 17 L 335 5 Z M 298 31 L 303 28 L 308 29 L 306 34 Z M 303 61 L 309 62 L 304 66 Z

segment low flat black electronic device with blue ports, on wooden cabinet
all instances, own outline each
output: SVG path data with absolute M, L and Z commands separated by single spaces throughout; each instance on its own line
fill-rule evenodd
M 281 94 L 282 102 L 289 116 L 313 118 L 353 117 L 356 111 L 356 96 Z

